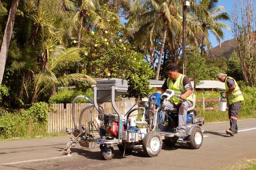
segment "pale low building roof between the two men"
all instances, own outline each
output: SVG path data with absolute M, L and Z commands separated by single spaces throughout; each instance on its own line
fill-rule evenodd
M 194 87 L 194 81 L 191 82 L 192 87 Z M 215 80 L 200 80 L 196 85 L 196 89 L 218 89 L 225 90 L 225 83 L 215 81 Z

